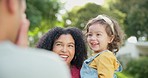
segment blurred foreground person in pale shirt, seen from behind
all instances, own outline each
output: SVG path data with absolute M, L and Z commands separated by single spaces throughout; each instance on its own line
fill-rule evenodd
M 25 0 L 0 0 L 0 78 L 70 78 L 53 52 L 27 48 Z

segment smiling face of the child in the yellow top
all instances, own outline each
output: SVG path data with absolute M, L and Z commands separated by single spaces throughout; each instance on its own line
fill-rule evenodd
M 89 47 L 96 53 L 107 50 L 108 43 L 111 42 L 105 30 L 106 26 L 95 23 L 88 28 L 87 42 Z

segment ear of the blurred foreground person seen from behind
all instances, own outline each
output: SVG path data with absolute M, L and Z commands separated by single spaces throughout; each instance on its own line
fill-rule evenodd
M 9 13 L 14 13 L 16 11 L 16 5 L 14 0 L 5 0 L 6 1 L 6 8 Z

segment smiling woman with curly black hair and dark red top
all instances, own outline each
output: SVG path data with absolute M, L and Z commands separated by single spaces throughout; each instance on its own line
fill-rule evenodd
M 87 58 L 87 49 L 81 30 L 53 28 L 39 40 L 37 48 L 57 53 L 69 66 L 72 78 L 80 78 L 80 68 Z

